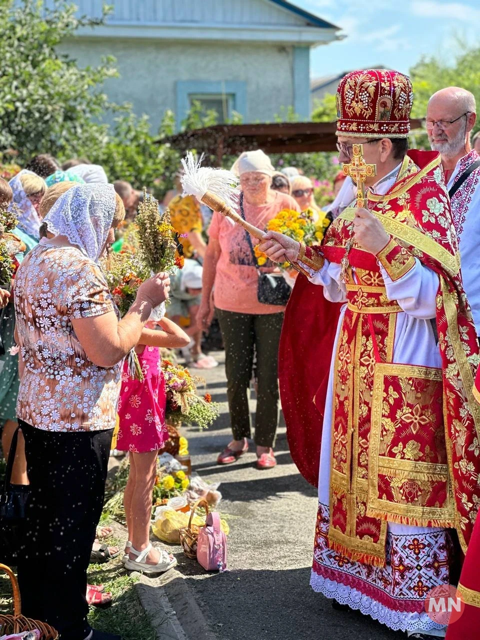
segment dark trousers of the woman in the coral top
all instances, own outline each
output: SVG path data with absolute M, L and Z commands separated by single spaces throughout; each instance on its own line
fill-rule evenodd
M 239 314 L 216 310 L 225 346 L 225 371 L 232 432 L 235 440 L 250 438 L 247 390 L 257 349 L 258 397 L 255 444 L 273 447 L 278 426 L 278 343 L 284 314 Z

